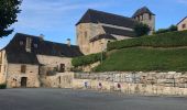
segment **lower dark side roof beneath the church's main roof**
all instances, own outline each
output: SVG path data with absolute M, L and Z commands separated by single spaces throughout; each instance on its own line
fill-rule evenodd
M 135 37 L 135 33 L 133 31 L 114 29 L 114 28 L 109 28 L 109 26 L 102 26 L 102 28 L 103 28 L 105 32 L 108 34 Z

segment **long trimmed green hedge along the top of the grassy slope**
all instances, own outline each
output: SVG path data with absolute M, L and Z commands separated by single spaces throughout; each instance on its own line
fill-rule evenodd
M 108 51 L 135 46 L 152 46 L 152 47 L 187 46 L 187 31 L 168 32 L 156 35 L 146 35 L 138 38 L 111 42 L 108 43 Z

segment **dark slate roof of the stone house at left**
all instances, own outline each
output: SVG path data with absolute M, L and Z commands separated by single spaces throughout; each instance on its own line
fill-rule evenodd
M 25 51 L 26 37 L 32 38 L 31 53 Z M 20 45 L 20 41 L 23 42 L 23 45 Z M 34 44 L 37 44 L 37 47 L 34 47 Z M 7 52 L 9 63 L 20 64 L 38 64 L 36 54 L 61 57 L 82 55 L 78 46 L 44 41 L 38 36 L 22 33 L 16 33 L 3 50 Z

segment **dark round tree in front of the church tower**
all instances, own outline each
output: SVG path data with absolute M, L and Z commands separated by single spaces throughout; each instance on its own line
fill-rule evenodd
M 138 23 L 134 26 L 134 32 L 136 36 L 147 35 L 150 31 L 151 31 L 150 26 L 143 23 Z

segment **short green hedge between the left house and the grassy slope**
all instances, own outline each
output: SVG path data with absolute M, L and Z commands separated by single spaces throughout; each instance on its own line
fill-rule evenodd
M 102 53 L 102 59 L 106 58 L 106 53 Z M 72 59 L 72 64 L 75 67 L 94 64 L 101 61 L 101 53 L 90 54 L 86 56 L 75 57 Z

